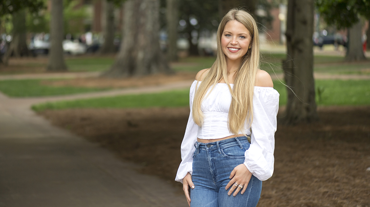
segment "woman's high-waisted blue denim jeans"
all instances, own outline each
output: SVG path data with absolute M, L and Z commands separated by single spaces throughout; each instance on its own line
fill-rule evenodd
M 211 143 L 195 142 L 191 207 L 255 207 L 261 195 L 262 181 L 252 175 L 243 194 L 234 197 L 225 190 L 234 167 L 244 162 L 244 152 L 249 148 L 245 136 Z

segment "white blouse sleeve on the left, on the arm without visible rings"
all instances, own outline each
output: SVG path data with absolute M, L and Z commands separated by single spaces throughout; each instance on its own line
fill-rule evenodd
M 196 136 L 198 134 L 198 125 L 193 121 L 192 116 L 192 106 L 194 101 L 194 92 L 196 88 L 197 81 L 194 81 L 190 87 L 189 92 L 189 105 L 190 105 L 190 115 L 188 119 L 188 124 L 186 125 L 184 139 L 181 143 L 181 163 L 179 169 L 176 173 L 175 180 L 182 183 L 182 179 L 188 174 L 193 173 L 193 154 L 195 151 Z

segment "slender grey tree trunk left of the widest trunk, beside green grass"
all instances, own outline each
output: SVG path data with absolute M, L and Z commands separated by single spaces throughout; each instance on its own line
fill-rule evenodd
M 51 0 L 50 50 L 47 70 L 65 71 L 63 55 L 63 0 Z

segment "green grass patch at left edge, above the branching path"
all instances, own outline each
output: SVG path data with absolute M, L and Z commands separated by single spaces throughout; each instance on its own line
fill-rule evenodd
M 13 97 L 30 97 L 30 96 L 52 96 L 78 94 L 84 92 L 103 91 L 106 89 L 99 88 L 78 88 L 72 86 L 48 86 L 41 85 L 41 80 L 4 80 L 0 81 L 0 91 L 8 96 Z

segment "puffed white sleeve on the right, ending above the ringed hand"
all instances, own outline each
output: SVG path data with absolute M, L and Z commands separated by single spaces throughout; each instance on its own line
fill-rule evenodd
M 271 87 L 254 87 L 251 143 L 245 151 L 245 166 L 259 180 L 267 180 L 274 171 L 276 115 L 279 93 Z

